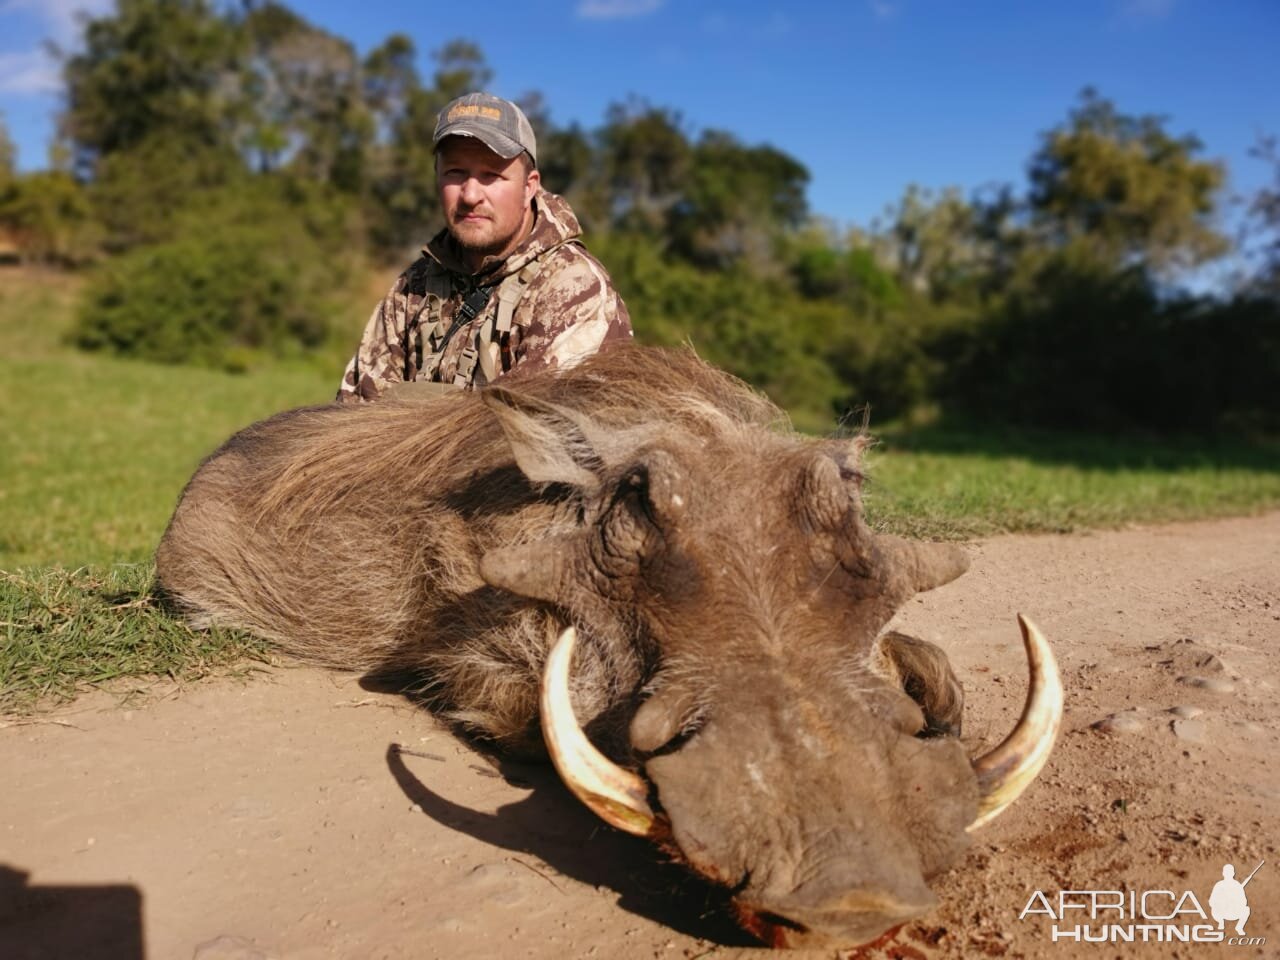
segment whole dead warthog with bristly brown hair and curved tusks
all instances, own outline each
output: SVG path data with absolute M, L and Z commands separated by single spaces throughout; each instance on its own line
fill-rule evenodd
M 620 349 L 256 424 L 188 484 L 157 576 L 197 625 L 411 668 L 484 737 L 545 740 L 582 801 L 728 887 L 767 943 L 855 945 L 937 902 L 925 881 L 1061 719 L 1024 623 L 1028 709 L 965 755 L 945 654 L 883 631 L 966 559 L 868 529 L 863 448 L 791 433 L 689 352 Z

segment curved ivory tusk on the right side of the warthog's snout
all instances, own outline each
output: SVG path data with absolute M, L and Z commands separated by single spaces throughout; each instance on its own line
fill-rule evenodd
M 1027 705 L 1014 732 L 991 753 L 973 762 L 978 774 L 978 815 L 968 829 L 973 831 L 998 817 L 1036 780 L 1048 760 L 1053 741 L 1062 726 L 1062 678 L 1057 672 L 1053 652 L 1039 628 L 1018 614 L 1023 628 L 1023 645 L 1030 669 Z

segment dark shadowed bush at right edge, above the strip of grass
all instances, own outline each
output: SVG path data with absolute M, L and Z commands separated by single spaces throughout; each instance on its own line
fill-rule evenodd
M 1142 269 L 1068 250 L 948 344 L 956 408 L 1050 428 L 1271 431 L 1280 305 L 1161 297 Z

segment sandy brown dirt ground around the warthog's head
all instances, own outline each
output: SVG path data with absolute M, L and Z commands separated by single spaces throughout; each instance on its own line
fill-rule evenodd
M 934 913 L 858 954 L 794 956 L 1280 956 L 1280 513 L 973 557 L 897 626 L 950 652 L 979 750 L 1020 708 L 1014 613 L 1033 617 L 1068 686 L 1059 748 L 936 879 Z M 547 769 L 357 677 L 282 667 L 0 726 L 5 960 L 763 956 Z M 1199 924 L 1184 893 L 1208 911 L 1224 864 L 1243 879 L 1260 860 L 1247 934 L 1266 943 L 1078 943 L 1061 934 L 1132 920 L 1046 915 L 1061 891 L 1169 891 L 1148 915 L 1178 899 Z

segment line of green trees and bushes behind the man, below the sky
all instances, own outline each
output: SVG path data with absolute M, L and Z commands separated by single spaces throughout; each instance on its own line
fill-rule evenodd
M 275 3 L 119 0 L 64 60 L 49 169 L 13 173 L 0 131 L 0 229 L 26 259 L 95 271 L 86 348 L 229 367 L 321 349 L 369 265 L 438 228 L 436 113 L 493 79 L 468 41 L 442 42 L 430 77 L 417 63 L 404 35 L 360 56 Z M 594 129 L 520 101 L 637 337 L 692 342 L 803 426 L 870 404 L 877 421 L 1280 429 L 1274 143 L 1274 182 L 1228 236 L 1222 164 L 1085 91 L 1025 184 L 913 187 L 840 230 L 776 147 L 641 100 Z M 1207 264 L 1234 274 L 1180 288 Z M 347 347 L 361 314 L 342 317 Z

